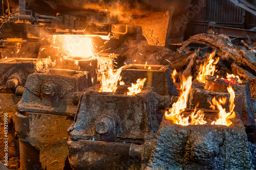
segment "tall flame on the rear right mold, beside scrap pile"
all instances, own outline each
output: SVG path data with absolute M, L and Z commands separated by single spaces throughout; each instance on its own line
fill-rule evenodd
M 200 65 L 199 68 L 199 74 L 197 76 L 197 80 L 201 83 L 205 83 L 205 76 L 209 75 L 209 76 L 214 76 L 214 72 L 216 72 L 217 70 L 216 68 L 216 64 L 219 62 L 220 58 L 217 57 L 216 60 L 214 60 L 214 56 L 215 56 L 216 50 L 214 52 L 212 52 L 209 56 L 209 58 L 204 62 L 204 65 Z

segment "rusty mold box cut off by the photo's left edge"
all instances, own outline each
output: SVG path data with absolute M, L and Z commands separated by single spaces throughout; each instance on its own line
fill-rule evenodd
M 1 92 L 8 92 L 8 89 L 15 89 L 17 86 L 24 86 L 29 75 L 48 68 L 50 64 L 50 59 L 0 59 Z

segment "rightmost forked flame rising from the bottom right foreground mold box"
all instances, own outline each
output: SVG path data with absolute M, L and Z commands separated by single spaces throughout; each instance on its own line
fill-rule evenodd
M 216 98 L 214 97 L 214 99 L 212 99 L 212 101 L 210 102 L 211 108 L 215 109 L 215 106 L 217 106 L 217 109 L 219 110 L 219 117 L 216 121 L 212 122 L 211 125 L 225 125 L 225 126 L 230 126 L 232 124 L 230 118 L 234 118 L 236 117 L 236 113 L 233 111 L 234 110 L 234 98 L 235 98 L 235 93 L 234 90 L 232 89 L 232 87 L 229 85 L 229 87 L 227 87 L 228 93 L 230 94 L 230 99 L 229 99 L 229 112 L 227 113 L 225 111 L 225 109 L 222 108 L 221 105 L 225 105 L 226 104 L 226 98 L 220 98 L 219 101 L 216 100 Z

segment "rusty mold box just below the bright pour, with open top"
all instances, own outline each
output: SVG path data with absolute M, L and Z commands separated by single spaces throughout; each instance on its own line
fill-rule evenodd
M 50 113 L 74 116 L 77 106 L 72 103 L 74 92 L 92 86 L 89 72 L 48 69 L 28 77 L 19 112 Z

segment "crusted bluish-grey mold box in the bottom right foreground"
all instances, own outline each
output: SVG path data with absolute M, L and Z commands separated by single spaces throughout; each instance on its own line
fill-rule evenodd
M 238 118 L 231 122 L 229 127 L 182 126 L 163 118 L 142 169 L 252 169 L 243 123 Z

